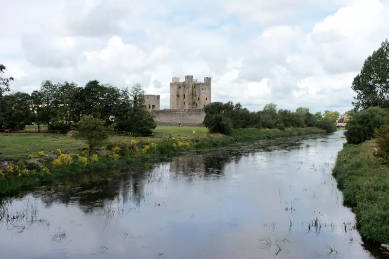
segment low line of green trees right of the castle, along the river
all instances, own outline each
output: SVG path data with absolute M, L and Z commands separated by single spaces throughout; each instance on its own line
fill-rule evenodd
M 312 114 L 305 107 L 297 108 L 295 112 L 277 109 L 277 105 L 269 103 L 261 111 L 250 112 L 240 103 L 233 104 L 213 102 L 204 108 L 204 125 L 211 132 L 230 134 L 231 129 L 260 128 L 281 129 L 317 127 L 327 132 L 336 131 L 338 112 L 325 111 Z

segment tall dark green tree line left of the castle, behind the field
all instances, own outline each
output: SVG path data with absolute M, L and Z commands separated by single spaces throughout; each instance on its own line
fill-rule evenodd
M 0 74 L 6 67 L 0 65 Z M 24 129 L 31 122 L 48 125 L 48 129 L 66 131 L 84 115 L 101 119 L 106 126 L 119 131 L 145 135 L 156 128 L 151 113 L 144 104 L 140 84 L 131 89 L 119 89 L 99 81 L 88 81 L 85 86 L 74 82 L 43 81 L 39 90 L 30 94 L 10 91 L 13 78 L 0 78 L 0 128 Z

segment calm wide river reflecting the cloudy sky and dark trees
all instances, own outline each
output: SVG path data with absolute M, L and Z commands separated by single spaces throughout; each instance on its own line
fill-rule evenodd
M 374 258 L 331 176 L 343 143 L 259 142 L 3 199 L 0 258 Z

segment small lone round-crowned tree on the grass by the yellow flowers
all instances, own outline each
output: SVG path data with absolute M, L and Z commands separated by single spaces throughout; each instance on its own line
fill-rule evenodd
M 101 119 L 95 119 L 92 115 L 84 115 L 81 120 L 76 124 L 77 132 L 73 133 L 75 138 L 82 139 L 89 146 L 89 156 L 93 153 L 94 149 L 103 146 L 109 137 L 109 134 L 113 132 L 111 126 L 106 126 L 105 121 Z

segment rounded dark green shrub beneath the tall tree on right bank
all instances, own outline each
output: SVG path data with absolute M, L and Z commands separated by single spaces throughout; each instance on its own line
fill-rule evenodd
M 355 113 L 348 120 L 344 133 L 349 144 L 360 144 L 374 136 L 374 131 L 381 128 L 388 116 L 385 109 L 370 107 L 359 113 Z

